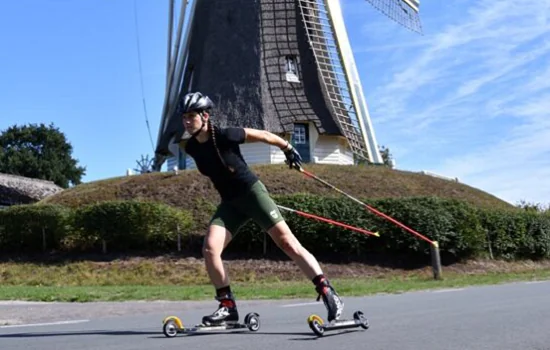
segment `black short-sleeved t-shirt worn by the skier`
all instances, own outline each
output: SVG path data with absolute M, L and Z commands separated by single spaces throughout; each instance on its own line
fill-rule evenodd
M 243 128 L 215 128 L 216 150 L 212 136 L 204 143 L 194 137 L 187 141 L 185 152 L 195 160 L 201 174 L 208 176 L 223 200 L 230 200 L 246 192 L 258 180 L 244 160 L 239 145 L 245 141 Z M 220 160 L 220 155 L 224 162 Z M 231 172 L 227 167 L 234 169 Z

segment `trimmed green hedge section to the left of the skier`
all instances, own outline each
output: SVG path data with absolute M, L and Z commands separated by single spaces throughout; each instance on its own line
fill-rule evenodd
M 0 250 L 163 251 L 192 225 L 188 212 L 161 203 L 110 201 L 75 210 L 21 205 L 0 211 Z

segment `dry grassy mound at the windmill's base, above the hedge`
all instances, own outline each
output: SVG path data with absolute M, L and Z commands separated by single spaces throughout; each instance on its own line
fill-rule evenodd
M 309 179 L 285 165 L 255 165 L 252 170 L 272 194 L 313 193 L 340 196 L 338 192 Z M 318 177 L 360 199 L 436 196 L 454 198 L 479 207 L 513 208 L 487 192 L 455 181 L 387 167 L 358 167 L 311 164 L 305 167 Z M 344 197 L 343 197 L 344 198 Z M 50 196 L 40 203 L 77 207 L 106 200 L 149 200 L 188 209 L 198 222 L 209 218 L 219 197 L 208 178 L 197 170 L 150 173 L 116 177 L 78 185 Z M 299 208 L 296 208 L 299 209 Z

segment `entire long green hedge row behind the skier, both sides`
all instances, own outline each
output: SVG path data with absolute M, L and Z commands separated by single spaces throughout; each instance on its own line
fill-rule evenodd
M 280 205 L 378 231 L 367 236 L 285 212 L 290 228 L 314 255 L 324 257 L 409 256 L 425 259 L 430 245 L 414 234 L 347 199 L 314 195 L 274 196 Z M 550 257 L 550 211 L 488 210 L 439 198 L 365 200 L 365 203 L 439 242 L 443 259 L 488 256 L 503 259 Z M 215 210 L 214 205 L 200 210 Z M 199 209 L 196 209 L 199 210 Z M 192 211 L 159 203 L 113 201 L 68 209 L 55 205 L 0 210 L 0 250 L 33 252 L 158 251 L 200 253 L 204 220 Z M 201 217 L 205 217 L 202 213 Z M 199 229 L 197 229 L 199 228 Z M 197 232 L 199 231 L 199 232 Z M 247 223 L 228 252 L 281 254 L 253 222 Z

